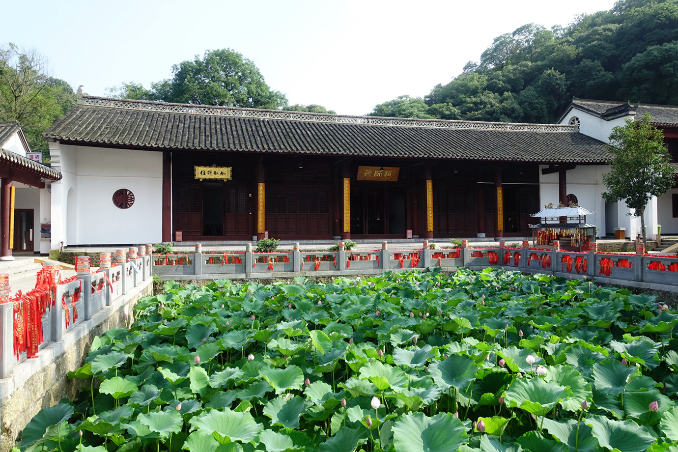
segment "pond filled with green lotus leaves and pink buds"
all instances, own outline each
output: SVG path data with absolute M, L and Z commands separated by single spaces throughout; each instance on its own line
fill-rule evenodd
M 678 323 L 650 295 L 486 269 L 165 283 L 28 451 L 678 452 Z

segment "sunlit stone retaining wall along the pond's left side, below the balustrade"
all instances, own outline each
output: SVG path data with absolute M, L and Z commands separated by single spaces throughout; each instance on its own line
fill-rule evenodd
M 92 340 L 111 328 L 129 327 L 134 322 L 134 306 L 153 292 L 148 279 L 104 306 L 89 321 L 66 329 L 62 340 L 45 346 L 38 357 L 14 367 L 8 378 L 0 379 L 0 452 L 8 452 L 20 439 L 20 432 L 41 409 L 56 405 L 62 398 L 74 400 L 83 380 L 66 375 L 85 363 Z

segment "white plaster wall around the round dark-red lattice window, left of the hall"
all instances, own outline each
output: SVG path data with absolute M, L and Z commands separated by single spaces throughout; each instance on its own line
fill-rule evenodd
M 161 241 L 161 152 L 60 147 L 66 155 L 75 157 L 76 163 L 73 188 L 77 196 L 77 230 L 68 232 L 67 236 L 71 237 L 68 245 Z M 129 209 L 113 205 L 113 193 L 119 188 L 127 188 L 134 193 L 134 205 Z

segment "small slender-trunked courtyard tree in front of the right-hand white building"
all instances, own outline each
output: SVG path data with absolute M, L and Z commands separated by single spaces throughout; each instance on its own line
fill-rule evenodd
M 609 203 L 624 201 L 633 209 L 631 215 L 640 217 L 645 247 L 645 207 L 652 197 L 666 193 L 675 183 L 664 134 L 651 120 L 645 113 L 639 121 L 626 119 L 626 125 L 612 129 L 607 145 L 613 155 L 608 162 L 611 171 L 603 175 L 607 187 L 603 198 Z

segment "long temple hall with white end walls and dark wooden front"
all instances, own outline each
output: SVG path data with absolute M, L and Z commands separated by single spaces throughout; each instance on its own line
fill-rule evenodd
M 589 222 L 605 225 L 599 175 L 610 155 L 576 125 L 79 95 L 43 137 L 63 174 L 52 184 L 52 247 L 248 241 L 266 232 L 510 239 L 532 234 L 530 213 L 573 197 L 597 211 Z

